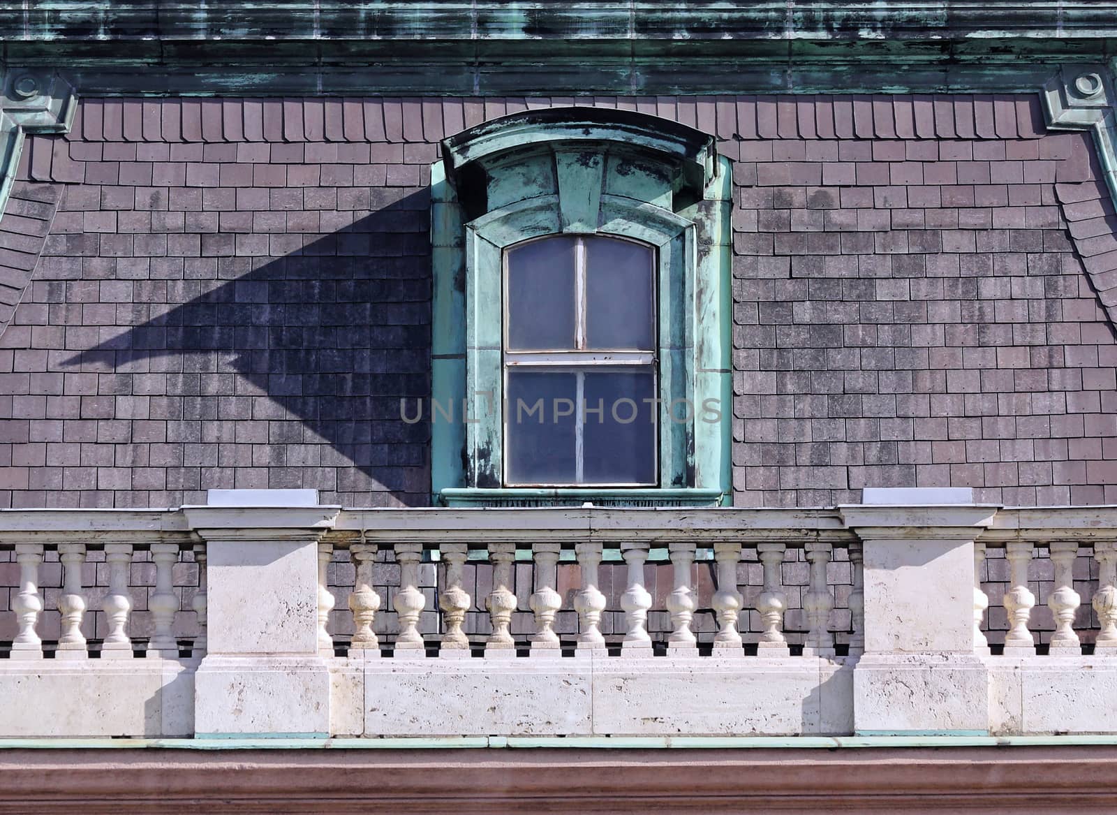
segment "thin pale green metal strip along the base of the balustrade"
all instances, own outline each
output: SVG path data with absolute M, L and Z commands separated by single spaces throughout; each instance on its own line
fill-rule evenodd
M 447 736 L 416 738 L 105 738 L 0 739 L 0 750 L 16 749 L 161 749 L 161 750 L 432 750 L 432 749 L 579 749 L 579 750 L 787 750 L 872 749 L 897 747 L 1113 747 L 1117 735 L 1075 736 Z

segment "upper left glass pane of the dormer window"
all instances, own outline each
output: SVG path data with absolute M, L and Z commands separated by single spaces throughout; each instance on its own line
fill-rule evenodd
M 508 250 L 508 348 L 574 348 L 574 238 Z

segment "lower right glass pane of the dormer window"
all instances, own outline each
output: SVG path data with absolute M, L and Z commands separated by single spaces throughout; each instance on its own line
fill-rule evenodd
M 584 483 L 653 484 L 659 411 L 650 401 L 651 367 L 586 373 L 584 392 Z

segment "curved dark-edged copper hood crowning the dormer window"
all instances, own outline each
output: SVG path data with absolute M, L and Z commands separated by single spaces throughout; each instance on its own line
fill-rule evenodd
M 672 172 L 680 200 L 703 198 L 717 173 L 714 138 L 678 122 L 612 107 L 550 107 L 484 122 L 442 140 L 447 179 L 460 191 L 484 184 L 509 154 L 550 148 L 637 153 Z

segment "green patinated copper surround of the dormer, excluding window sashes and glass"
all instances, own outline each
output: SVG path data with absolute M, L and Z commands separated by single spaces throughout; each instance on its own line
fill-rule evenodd
M 728 493 L 732 173 L 709 135 L 661 124 L 630 111 L 553 108 L 443 141 L 432 206 L 436 500 L 709 505 Z M 658 250 L 662 490 L 504 490 L 503 253 L 527 238 L 588 231 Z M 703 420 L 710 401 L 718 415 Z M 671 420 L 672 404 L 694 406 L 693 416 Z M 459 405 L 446 420 L 446 406 Z

